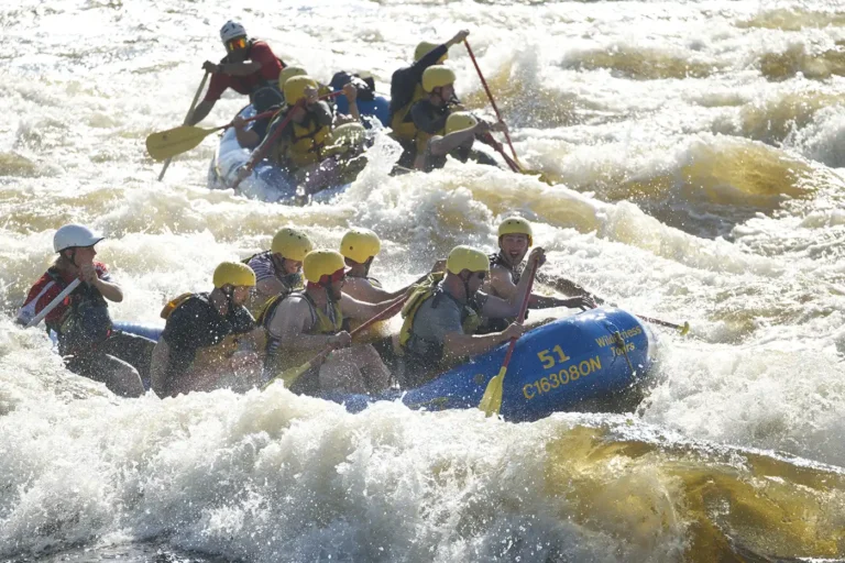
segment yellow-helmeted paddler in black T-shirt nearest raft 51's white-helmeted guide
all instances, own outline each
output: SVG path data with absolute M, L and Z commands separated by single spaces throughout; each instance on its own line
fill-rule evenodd
M 264 331 L 244 307 L 255 274 L 240 262 L 223 262 L 212 282 L 211 291 L 184 294 L 162 311 L 167 323 L 150 369 L 160 397 L 261 383 Z

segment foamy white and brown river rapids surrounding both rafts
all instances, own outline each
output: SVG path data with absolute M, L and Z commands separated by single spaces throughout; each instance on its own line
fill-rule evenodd
M 233 18 L 383 92 L 417 42 L 469 29 L 517 153 L 555 185 L 456 163 L 389 177 L 380 140 L 337 201 L 281 207 L 207 189 L 215 136 L 156 181 L 144 140 L 182 123 Z M 841 2 L 15 0 L 0 26 L 0 561 L 845 558 Z M 449 64 L 491 114 L 462 47 Z M 551 285 L 691 323 L 657 329 L 636 412 L 353 416 L 281 386 L 125 400 L 12 322 L 67 222 L 108 235 L 112 316 L 156 322 L 284 225 L 325 246 L 375 230 L 394 288 L 454 244 L 492 250 L 514 212 Z

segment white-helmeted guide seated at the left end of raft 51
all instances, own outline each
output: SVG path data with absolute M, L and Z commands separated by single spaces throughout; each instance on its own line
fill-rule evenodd
M 29 323 L 74 279 L 81 279 L 84 283 L 46 316 L 47 330 L 57 334 L 58 351 L 69 371 L 105 383 L 118 395 L 138 397 L 144 393 L 142 378 L 150 377 L 155 342 L 112 328 L 107 301 L 122 301 L 123 291 L 106 265 L 94 260 L 95 245 L 102 239 L 80 224 L 66 224 L 56 231 L 53 249 L 58 258 L 30 289 L 18 321 Z

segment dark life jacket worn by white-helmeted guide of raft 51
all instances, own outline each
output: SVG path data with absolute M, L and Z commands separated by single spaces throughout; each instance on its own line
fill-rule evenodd
M 47 275 L 62 289 L 67 287 L 58 268 L 48 268 Z M 53 330 L 58 335 L 62 355 L 89 350 L 109 338 L 112 329 L 109 305 L 99 289 L 80 284 L 65 298 L 65 302 L 68 307 L 62 317 L 47 323 L 47 330 Z

